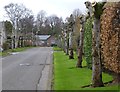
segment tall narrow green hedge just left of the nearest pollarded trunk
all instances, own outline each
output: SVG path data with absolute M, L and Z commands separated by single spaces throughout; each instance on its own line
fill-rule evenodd
M 84 56 L 87 67 L 92 68 L 92 19 L 85 23 Z

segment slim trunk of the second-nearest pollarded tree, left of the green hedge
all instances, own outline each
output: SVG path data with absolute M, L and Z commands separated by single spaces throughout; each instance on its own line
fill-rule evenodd
M 83 41 L 84 41 L 84 23 L 82 24 L 82 30 L 80 31 L 80 42 L 78 47 L 77 67 L 79 68 L 82 68 Z

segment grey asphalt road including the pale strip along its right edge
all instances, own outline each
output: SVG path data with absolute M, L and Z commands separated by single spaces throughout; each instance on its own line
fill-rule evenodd
M 37 47 L 2 59 L 3 90 L 50 90 L 52 48 Z

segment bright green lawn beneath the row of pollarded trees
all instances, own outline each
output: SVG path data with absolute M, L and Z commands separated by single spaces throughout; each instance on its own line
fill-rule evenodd
M 54 90 L 116 90 L 118 86 L 81 88 L 89 85 L 92 79 L 92 70 L 87 69 L 84 60 L 84 68 L 76 68 L 77 56 L 69 60 L 62 51 L 54 52 Z M 112 80 L 112 76 L 103 73 L 103 82 Z

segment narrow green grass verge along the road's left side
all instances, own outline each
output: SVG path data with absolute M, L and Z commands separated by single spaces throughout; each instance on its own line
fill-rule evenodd
M 22 47 L 22 48 L 9 49 L 9 50 L 0 52 L 0 56 L 7 56 L 7 55 L 10 55 L 11 52 L 21 52 L 21 51 L 27 50 L 29 48 L 32 48 L 32 47 Z

